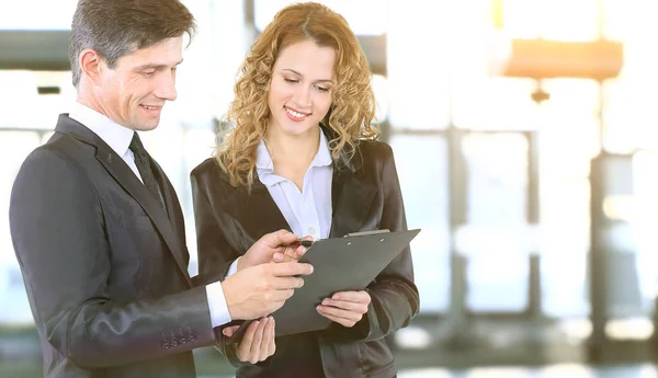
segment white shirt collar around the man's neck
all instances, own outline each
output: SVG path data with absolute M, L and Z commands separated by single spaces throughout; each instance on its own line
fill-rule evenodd
M 87 128 L 103 139 L 103 141 L 120 157 L 125 156 L 128 151 L 133 135 L 135 134 L 135 130 L 132 128 L 122 126 L 110 119 L 107 116 L 91 107 L 84 106 L 77 101 L 69 112 L 69 117 L 87 126 Z

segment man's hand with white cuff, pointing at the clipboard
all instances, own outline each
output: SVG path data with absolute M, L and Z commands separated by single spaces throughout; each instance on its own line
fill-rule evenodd
M 268 263 L 247 267 L 222 283 L 230 319 L 256 319 L 279 310 L 313 273 L 310 264 Z

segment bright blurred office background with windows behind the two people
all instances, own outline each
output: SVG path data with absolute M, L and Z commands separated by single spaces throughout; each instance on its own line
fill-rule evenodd
M 286 0 L 188 0 L 198 35 L 147 148 L 196 248 L 189 172 Z M 326 0 L 360 37 L 395 151 L 421 312 L 400 377 L 658 377 L 658 1 Z M 0 376 L 41 351 L 9 233 L 25 156 L 75 99 L 75 0 L 0 2 Z M 35 230 L 38 237 L 38 230 Z M 232 369 L 208 348 L 203 377 Z

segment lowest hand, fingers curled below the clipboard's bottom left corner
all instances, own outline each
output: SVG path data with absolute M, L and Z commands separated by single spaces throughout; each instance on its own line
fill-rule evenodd
M 251 364 L 260 363 L 268 359 L 276 351 L 274 344 L 274 318 L 264 317 L 251 322 L 247 327 L 247 331 L 237 346 L 238 359 Z M 222 333 L 230 337 L 238 329 L 238 325 L 227 327 Z

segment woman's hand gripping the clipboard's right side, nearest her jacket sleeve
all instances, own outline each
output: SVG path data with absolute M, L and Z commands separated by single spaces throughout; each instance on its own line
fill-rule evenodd
M 339 291 L 325 298 L 316 310 L 322 317 L 352 328 L 367 312 L 371 297 L 367 291 Z

